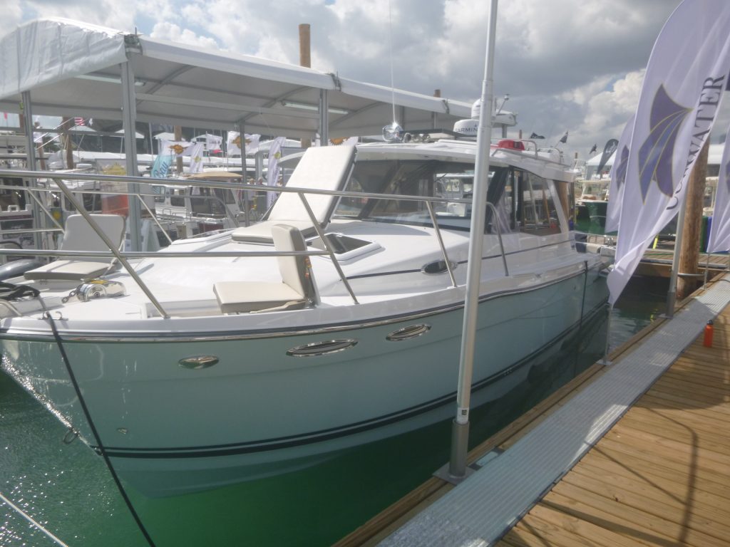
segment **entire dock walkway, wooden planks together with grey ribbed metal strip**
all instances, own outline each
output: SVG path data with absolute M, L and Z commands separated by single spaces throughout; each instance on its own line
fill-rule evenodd
M 721 274 L 335 545 L 727 546 L 729 303 Z

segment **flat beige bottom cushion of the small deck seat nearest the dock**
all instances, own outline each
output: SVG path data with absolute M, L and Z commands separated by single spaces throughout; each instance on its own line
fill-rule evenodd
M 285 283 L 221 281 L 213 285 L 220 311 L 245 314 L 288 303 L 304 303 L 304 296 Z

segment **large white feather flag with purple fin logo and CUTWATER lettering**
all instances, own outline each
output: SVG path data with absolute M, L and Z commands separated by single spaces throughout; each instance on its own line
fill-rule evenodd
M 726 0 L 684 0 L 654 43 L 629 144 L 615 265 L 608 276 L 610 303 L 683 205 L 727 85 L 729 27 Z

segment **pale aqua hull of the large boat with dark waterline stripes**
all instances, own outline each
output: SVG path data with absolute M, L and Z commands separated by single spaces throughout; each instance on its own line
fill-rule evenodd
M 526 379 L 529 362 L 605 299 L 597 269 L 483 298 L 472 406 Z M 115 469 L 145 494 L 163 496 L 295 470 L 448 419 L 462 319 L 455 306 L 336 332 L 62 344 Z M 388 339 L 409 328 L 418 335 Z M 56 341 L 5 336 L 7 370 L 99 450 Z M 287 353 L 326 341 L 352 344 L 310 357 Z M 196 357 L 207 359 L 181 366 Z

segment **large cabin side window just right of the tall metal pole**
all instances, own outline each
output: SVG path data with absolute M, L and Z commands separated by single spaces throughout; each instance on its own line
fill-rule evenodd
M 560 233 L 556 200 L 548 180 L 519 169 L 515 169 L 513 175 L 518 188 L 516 216 L 520 231 L 539 236 Z

